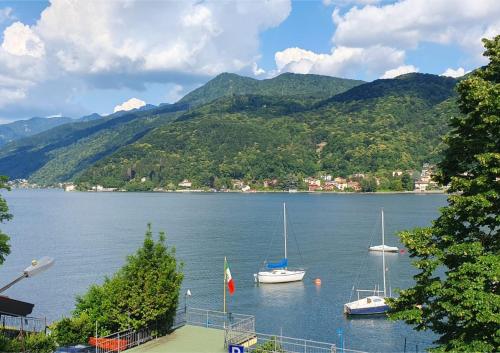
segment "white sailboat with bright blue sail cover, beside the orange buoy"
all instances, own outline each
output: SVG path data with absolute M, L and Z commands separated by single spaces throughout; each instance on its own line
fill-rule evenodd
M 305 270 L 288 269 L 288 257 L 287 257 L 287 228 L 286 228 L 286 204 L 283 203 L 283 238 L 285 241 L 285 257 L 277 263 L 268 263 L 266 269 L 254 274 L 255 282 L 257 283 L 287 283 L 302 281 Z

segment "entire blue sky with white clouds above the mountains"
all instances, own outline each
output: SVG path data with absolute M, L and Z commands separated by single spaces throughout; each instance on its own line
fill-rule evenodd
M 498 0 L 0 1 L 0 123 L 173 103 L 222 72 L 372 81 L 486 64 Z

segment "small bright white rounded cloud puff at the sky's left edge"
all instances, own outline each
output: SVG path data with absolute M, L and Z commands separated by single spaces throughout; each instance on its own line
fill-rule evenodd
M 29 26 L 15 22 L 3 32 L 2 48 L 11 55 L 40 58 L 45 54 L 45 47 Z

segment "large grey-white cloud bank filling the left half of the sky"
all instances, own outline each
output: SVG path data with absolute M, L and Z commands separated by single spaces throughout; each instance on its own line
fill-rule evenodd
M 0 82 L 0 116 L 68 115 L 75 97 L 95 87 L 190 86 L 224 71 L 252 73 L 260 33 L 290 11 L 290 0 L 52 0 L 36 24 L 16 22 L 0 39 L 0 77 L 26 83 L 15 87 L 24 100 L 9 106 L 12 85 Z

